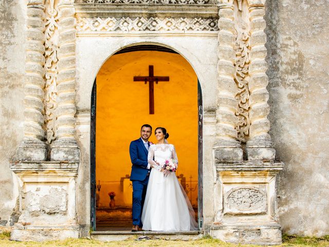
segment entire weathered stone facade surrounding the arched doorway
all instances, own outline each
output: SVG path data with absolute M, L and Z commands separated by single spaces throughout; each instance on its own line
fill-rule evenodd
M 202 230 L 262 244 L 280 243 L 280 225 L 329 234 L 327 7 L 3 1 L 0 224 L 16 240 L 88 234 L 94 78 L 116 51 L 157 44 L 190 62 L 203 91 Z

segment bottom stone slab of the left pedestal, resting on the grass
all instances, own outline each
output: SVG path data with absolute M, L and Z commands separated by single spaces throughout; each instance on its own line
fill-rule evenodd
M 64 226 L 23 226 L 15 224 L 10 233 L 10 240 L 16 241 L 46 241 L 79 238 L 78 225 Z

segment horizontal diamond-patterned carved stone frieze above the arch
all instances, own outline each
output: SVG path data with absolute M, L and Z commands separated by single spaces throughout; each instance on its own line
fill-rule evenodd
M 79 17 L 77 30 L 88 31 L 217 31 L 214 18 Z

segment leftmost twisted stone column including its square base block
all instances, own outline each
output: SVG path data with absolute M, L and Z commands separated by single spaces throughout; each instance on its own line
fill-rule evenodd
M 29 0 L 27 4 L 27 41 L 25 67 L 24 139 L 17 150 L 21 161 L 44 161 L 47 148 L 44 140 L 44 64 L 45 23 L 44 1 Z

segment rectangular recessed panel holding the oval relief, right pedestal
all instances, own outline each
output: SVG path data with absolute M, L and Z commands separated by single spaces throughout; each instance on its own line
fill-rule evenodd
M 267 195 L 265 186 L 234 187 L 226 192 L 224 198 L 225 214 L 265 214 Z

